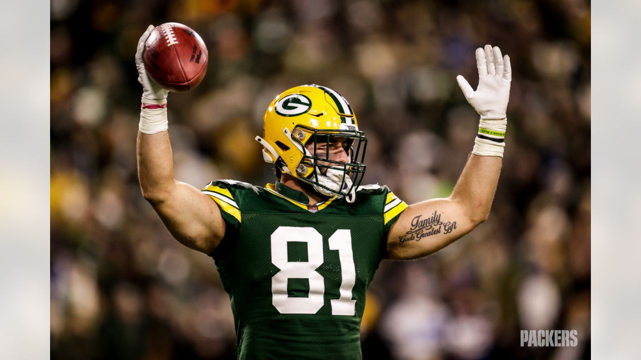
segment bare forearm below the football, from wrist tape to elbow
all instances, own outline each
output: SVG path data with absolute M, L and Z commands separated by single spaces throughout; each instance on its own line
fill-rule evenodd
M 150 202 L 162 201 L 176 184 L 169 131 L 152 135 L 138 131 L 136 152 L 142 195 Z

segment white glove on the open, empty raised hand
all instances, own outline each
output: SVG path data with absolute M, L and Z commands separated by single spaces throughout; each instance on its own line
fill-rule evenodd
M 479 70 L 479 86 L 476 91 L 463 76 L 456 76 L 456 82 L 465 99 L 472 105 L 481 120 L 505 119 L 510 98 L 512 66 L 509 56 L 501 56 L 501 49 L 485 45 L 485 51 L 476 49 L 476 67 Z

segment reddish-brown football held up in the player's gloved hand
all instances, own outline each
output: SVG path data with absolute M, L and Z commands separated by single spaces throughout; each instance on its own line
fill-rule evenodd
M 207 72 L 209 60 L 200 35 L 178 22 L 156 26 L 145 42 L 142 57 L 149 76 L 174 92 L 198 86 Z

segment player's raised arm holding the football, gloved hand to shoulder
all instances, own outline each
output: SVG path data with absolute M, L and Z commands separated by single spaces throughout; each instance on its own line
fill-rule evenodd
M 142 35 L 136 53 L 138 81 L 143 87 L 136 144 L 140 188 L 176 240 L 209 254 L 221 241 L 225 224 L 210 197 L 174 178 L 174 156 L 167 128 L 167 90 L 147 76 L 142 62 L 142 48 L 152 29 L 149 26 Z

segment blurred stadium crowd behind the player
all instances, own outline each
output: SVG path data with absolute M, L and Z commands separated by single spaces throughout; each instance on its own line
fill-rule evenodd
M 363 318 L 365 359 L 589 356 L 590 5 L 587 1 L 51 1 L 51 357 L 232 359 L 213 261 L 175 240 L 135 166 L 148 24 L 183 22 L 210 54 L 169 95 L 176 177 L 273 182 L 253 138 L 265 107 L 330 86 L 369 137 L 363 183 L 408 203 L 445 196 L 478 116 L 474 49 L 513 66 L 490 219 L 429 258 L 384 261 Z M 520 329 L 576 329 L 576 348 L 522 348 Z

